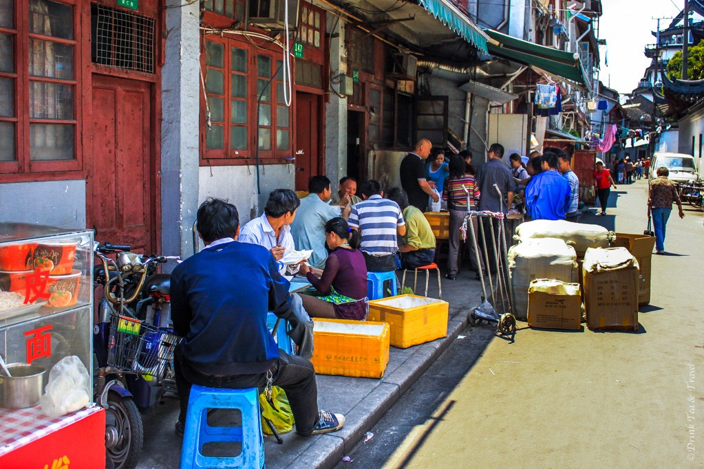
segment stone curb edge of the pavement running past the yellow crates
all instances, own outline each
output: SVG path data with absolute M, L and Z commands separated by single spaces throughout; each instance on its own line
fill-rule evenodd
M 334 468 L 467 327 L 468 316 L 463 309 L 463 306 L 458 307 L 455 315 L 449 319 L 448 335 L 445 338 L 418 347 L 389 373 L 383 383 L 354 406 L 346 414 L 348 424 L 342 430 L 321 435 L 286 467 Z

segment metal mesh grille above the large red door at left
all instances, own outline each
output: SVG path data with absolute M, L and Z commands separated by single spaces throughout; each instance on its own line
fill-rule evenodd
M 94 63 L 154 73 L 153 18 L 92 4 L 91 23 Z

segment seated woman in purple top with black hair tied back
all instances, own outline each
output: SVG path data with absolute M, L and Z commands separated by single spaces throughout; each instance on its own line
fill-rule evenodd
M 301 295 L 303 308 L 314 318 L 365 319 L 367 317 L 367 265 L 359 250 L 360 234 L 336 217 L 325 224 L 325 243 L 330 254 L 325 269 L 301 264 L 316 292 Z M 325 297 L 320 297 L 325 295 Z

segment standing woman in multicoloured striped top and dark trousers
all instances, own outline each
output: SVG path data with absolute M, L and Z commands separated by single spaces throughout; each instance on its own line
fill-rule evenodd
M 467 188 L 467 191 L 470 191 L 469 206 L 467 206 L 467 193 L 465 192 L 465 188 Z M 447 201 L 447 207 L 450 210 L 450 252 L 447 257 L 447 274 L 445 274 L 445 278 L 449 278 L 450 280 L 457 278 L 457 272 L 460 268 L 460 258 L 464 246 L 464 240 L 460 237 L 460 228 L 465 221 L 465 217 L 467 217 L 467 212 L 469 210 L 477 210 L 477 202 L 480 195 L 477 181 L 474 179 L 474 176 L 467 173 L 465 160 L 460 155 L 455 155 L 450 158 L 450 176 L 445 179 L 442 193 L 442 198 Z M 479 239 L 477 217 L 472 217 L 472 226 L 474 233 L 477 233 L 477 239 Z M 484 263 L 482 256 L 479 256 L 479 262 L 482 262 L 483 271 Z M 472 249 L 470 249 L 470 263 L 474 269 L 477 269 L 477 259 Z

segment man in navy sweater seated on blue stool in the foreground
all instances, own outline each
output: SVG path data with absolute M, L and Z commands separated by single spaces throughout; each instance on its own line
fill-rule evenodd
M 266 327 L 267 311 L 273 311 L 291 322 L 299 345 L 306 329 L 294 313 L 301 300 L 289 295 L 271 252 L 237 242 L 237 207 L 224 200 L 208 198 L 197 220 L 206 248 L 171 274 L 171 318 L 184 337 L 174 360 L 181 400 L 177 434 L 183 434 L 191 385 L 265 387 L 268 378 L 286 391 L 299 435 L 342 428 L 344 416 L 318 410 L 313 364 L 280 350 Z

